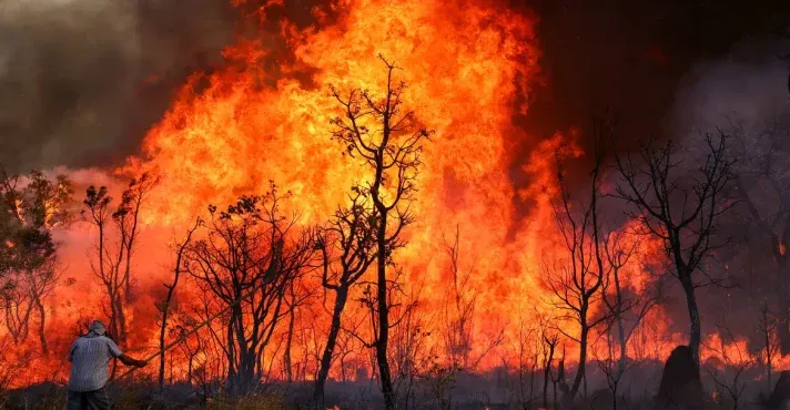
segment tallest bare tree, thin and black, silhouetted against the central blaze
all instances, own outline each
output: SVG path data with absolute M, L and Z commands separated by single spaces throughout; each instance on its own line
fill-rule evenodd
M 378 98 L 368 91 L 354 90 L 348 96 L 332 88 L 332 94 L 343 107 L 335 117 L 333 139 L 345 145 L 352 157 L 361 158 L 371 171 L 371 182 L 364 186 L 376 211 L 376 306 L 377 326 L 374 347 L 387 410 L 395 408 L 387 348 L 389 344 L 389 304 L 387 303 L 387 265 L 392 252 L 402 246 L 401 233 L 413 221 L 409 204 L 416 191 L 422 165 L 423 142 L 431 132 L 419 127 L 413 111 L 404 111 L 405 83 L 395 82 L 396 66 L 382 58 L 387 68 L 386 95 Z

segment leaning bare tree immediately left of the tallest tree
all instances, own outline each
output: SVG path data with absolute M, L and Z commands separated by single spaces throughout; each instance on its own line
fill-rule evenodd
M 320 237 L 323 256 L 321 284 L 335 294 L 335 303 L 315 380 L 314 397 L 318 403 L 323 403 L 324 383 L 332 366 L 348 290 L 376 260 L 375 214 L 363 189 L 354 187 L 350 199 L 351 206 L 338 208 Z

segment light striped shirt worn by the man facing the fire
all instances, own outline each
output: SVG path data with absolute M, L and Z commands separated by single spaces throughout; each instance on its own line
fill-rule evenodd
M 77 339 L 69 350 L 69 390 L 93 391 L 104 387 L 110 379 L 110 359 L 121 355 L 121 349 L 108 337 L 90 332 Z

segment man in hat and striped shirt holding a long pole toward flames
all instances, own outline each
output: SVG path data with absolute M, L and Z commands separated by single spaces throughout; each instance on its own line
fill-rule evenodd
M 93 320 L 88 335 L 77 339 L 69 350 L 71 376 L 69 376 L 69 410 L 110 409 L 107 394 L 110 359 L 118 358 L 126 366 L 143 367 L 143 360 L 123 355 L 112 339 L 104 336 L 107 328 L 99 320 Z

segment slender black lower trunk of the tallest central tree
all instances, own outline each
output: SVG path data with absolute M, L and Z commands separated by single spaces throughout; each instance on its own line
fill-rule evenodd
M 389 306 L 387 305 L 387 255 L 386 255 L 386 209 L 379 209 L 381 219 L 376 232 L 378 243 L 378 266 L 377 266 L 377 304 L 378 304 L 378 340 L 376 340 L 376 363 L 378 365 L 378 376 L 382 381 L 382 393 L 384 394 L 384 407 L 386 410 L 395 410 L 395 390 L 389 375 L 389 362 L 387 361 L 387 347 L 389 345 Z

